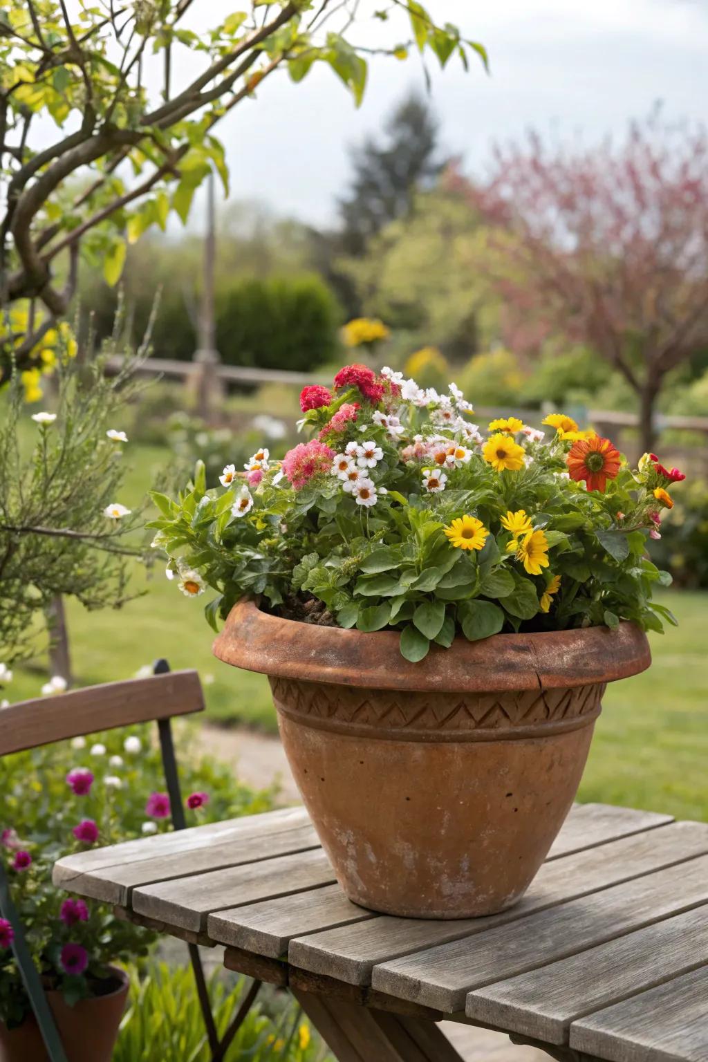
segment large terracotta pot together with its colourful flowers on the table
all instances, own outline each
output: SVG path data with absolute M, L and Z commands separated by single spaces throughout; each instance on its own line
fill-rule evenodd
M 563 414 L 488 429 L 452 383 L 348 365 L 307 443 L 155 495 L 214 652 L 270 676 L 305 804 L 351 900 L 430 918 L 516 903 L 575 795 L 605 683 L 650 664 L 644 555 L 683 478 Z

